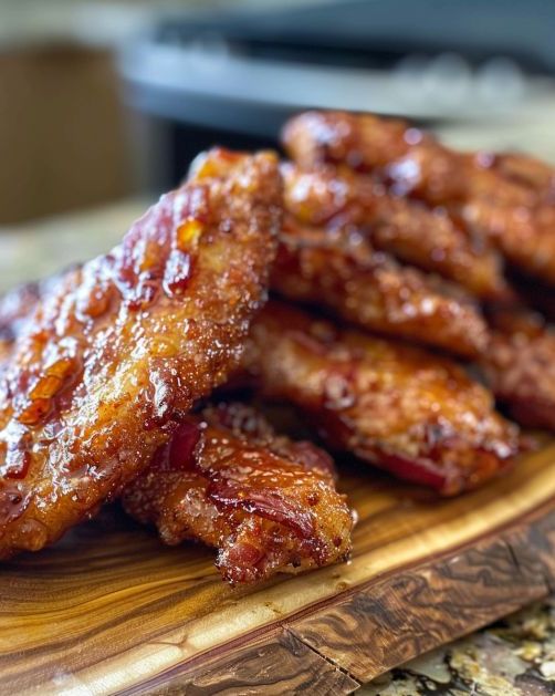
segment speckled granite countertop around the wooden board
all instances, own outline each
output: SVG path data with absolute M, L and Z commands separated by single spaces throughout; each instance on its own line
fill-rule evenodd
M 0 230 L 0 292 L 92 258 L 116 243 L 148 201 Z M 394 669 L 362 696 L 555 694 L 555 598 Z

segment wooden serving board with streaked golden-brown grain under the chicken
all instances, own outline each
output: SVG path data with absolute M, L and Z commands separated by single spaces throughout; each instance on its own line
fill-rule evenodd
M 349 694 L 555 588 L 555 443 L 454 500 L 347 465 L 353 560 L 230 589 L 118 508 L 0 571 L 2 694 Z

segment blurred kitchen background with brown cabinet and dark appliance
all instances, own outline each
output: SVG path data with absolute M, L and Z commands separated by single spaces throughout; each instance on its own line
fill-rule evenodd
M 555 162 L 554 30 L 553 0 L 0 0 L 0 270 L 22 225 L 151 200 L 311 106 Z

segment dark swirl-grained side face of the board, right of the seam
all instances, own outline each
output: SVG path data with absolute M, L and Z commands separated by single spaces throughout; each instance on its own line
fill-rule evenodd
M 555 532 L 555 513 L 541 519 Z M 526 546 L 525 542 L 533 546 Z M 357 589 L 290 630 L 353 677 L 384 671 L 544 598 L 552 586 L 537 522 Z

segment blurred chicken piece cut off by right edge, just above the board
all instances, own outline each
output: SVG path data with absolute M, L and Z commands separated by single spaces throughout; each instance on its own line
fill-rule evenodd
M 523 308 L 491 310 L 482 367 L 498 399 L 523 426 L 555 432 L 555 333 Z

